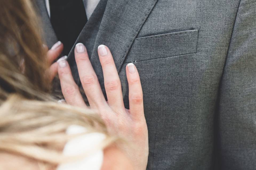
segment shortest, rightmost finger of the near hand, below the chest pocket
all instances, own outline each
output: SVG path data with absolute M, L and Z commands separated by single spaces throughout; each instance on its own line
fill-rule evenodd
M 139 73 L 133 63 L 126 66 L 126 75 L 129 85 L 129 107 L 131 116 L 135 119 L 144 117 L 143 94 Z

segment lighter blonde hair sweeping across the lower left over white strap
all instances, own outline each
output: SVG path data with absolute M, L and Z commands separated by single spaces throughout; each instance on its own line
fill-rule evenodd
M 108 135 L 103 121 L 90 109 L 11 95 L 0 107 L 0 152 L 11 152 L 49 164 L 70 161 L 62 156 L 61 148 L 77 136 L 65 133 L 71 125 L 85 127 L 86 133 L 106 135 L 101 145 L 88 148 L 88 152 L 105 148 L 117 139 Z

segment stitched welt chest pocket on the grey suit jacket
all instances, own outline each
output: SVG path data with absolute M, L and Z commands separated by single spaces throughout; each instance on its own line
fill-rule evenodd
M 193 29 L 136 38 L 125 63 L 196 53 L 198 33 Z

